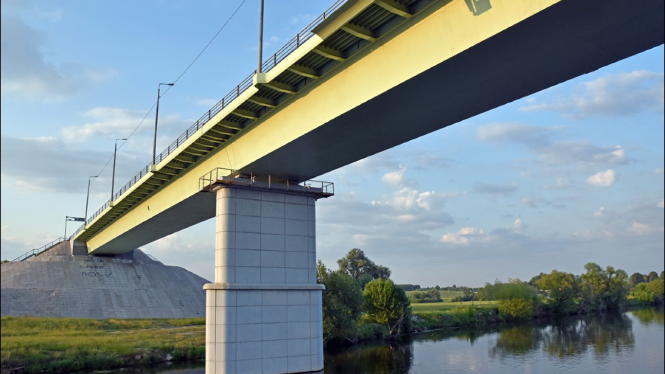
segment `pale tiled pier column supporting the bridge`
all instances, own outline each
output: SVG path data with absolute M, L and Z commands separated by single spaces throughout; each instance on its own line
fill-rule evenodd
M 323 369 L 315 197 L 233 185 L 215 193 L 215 283 L 203 287 L 205 373 Z

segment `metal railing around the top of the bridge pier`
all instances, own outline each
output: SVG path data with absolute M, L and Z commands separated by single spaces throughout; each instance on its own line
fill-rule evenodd
M 257 177 L 253 173 L 239 174 L 237 170 L 233 169 L 214 168 L 199 178 L 199 191 L 208 190 L 210 186 L 215 184 L 235 184 L 269 190 L 307 192 L 325 197 L 334 195 L 334 183 L 332 182 L 305 180 L 304 182 L 293 183 L 289 179 L 279 180 L 279 182 L 277 180 L 273 181 L 270 175 L 261 176 L 261 180 L 257 180 Z

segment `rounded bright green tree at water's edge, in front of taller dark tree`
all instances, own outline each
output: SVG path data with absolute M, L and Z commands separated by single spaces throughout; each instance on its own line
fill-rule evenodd
M 378 278 L 365 285 L 364 306 L 368 317 L 388 326 L 389 335 L 408 329 L 411 321 L 411 306 L 406 292 L 396 287 L 392 280 Z

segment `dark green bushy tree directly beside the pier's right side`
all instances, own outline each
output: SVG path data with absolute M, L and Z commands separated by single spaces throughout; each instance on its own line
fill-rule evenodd
M 362 291 L 348 274 L 331 272 L 319 260 L 317 281 L 323 290 L 323 338 L 325 341 L 355 337 L 362 313 Z

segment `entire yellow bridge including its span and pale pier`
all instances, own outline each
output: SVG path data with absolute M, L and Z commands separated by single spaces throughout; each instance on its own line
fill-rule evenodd
M 217 217 L 206 372 L 323 368 L 310 182 L 664 42 L 662 0 L 337 1 L 71 237 L 121 254 Z

